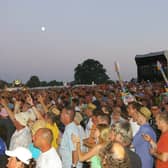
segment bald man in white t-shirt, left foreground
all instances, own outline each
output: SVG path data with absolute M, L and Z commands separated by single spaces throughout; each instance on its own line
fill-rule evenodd
M 53 134 L 48 128 L 40 128 L 33 136 L 34 145 L 41 150 L 36 168 L 62 168 L 61 160 L 52 147 Z

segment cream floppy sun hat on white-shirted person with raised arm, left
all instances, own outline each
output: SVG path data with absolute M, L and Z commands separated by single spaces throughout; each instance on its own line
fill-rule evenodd
M 36 120 L 36 115 L 34 114 L 34 112 L 29 109 L 26 112 L 20 112 L 15 114 L 15 119 L 23 126 L 27 125 L 27 122 L 29 120 L 35 121 Z

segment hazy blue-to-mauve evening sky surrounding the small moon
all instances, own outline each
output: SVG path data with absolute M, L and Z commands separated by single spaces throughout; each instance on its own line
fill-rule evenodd
M 115 61 L 124 80 L 136 78 L 135 55 L 168 49 L 167 6 L 167 0 L 0 0 L 0 80 L 72 81 L 88 58 L 112 80 Z

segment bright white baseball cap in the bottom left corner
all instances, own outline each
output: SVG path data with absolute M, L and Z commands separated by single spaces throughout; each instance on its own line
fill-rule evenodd
M 17 147 L 12 151 L 6 150 L 5 154 L 10 157 L 17 157 L 21 162 L 27 165 L 29 164 L 30 159 L 32 159 L 31 152 L 24 147 Z

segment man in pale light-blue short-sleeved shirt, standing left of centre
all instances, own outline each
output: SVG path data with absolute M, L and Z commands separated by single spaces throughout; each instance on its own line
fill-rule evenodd
M 72 133 L 79 135 L 79 129 L 77 125 L 73 122 L 75 117 L 75 112 L 72 108 L 64 108 L 61 112 L 61 122 L 65 125 L 65 131 L 62 135 L 61 144 L 59 152 L 61 155 L 63 168 L 81 167 L 78 163 L 77 151 L 71 140 Z

